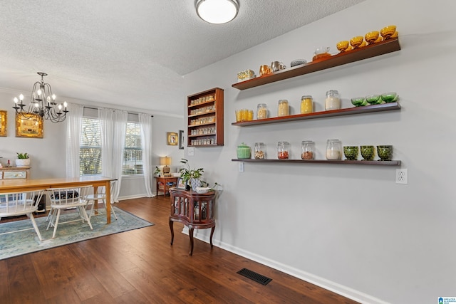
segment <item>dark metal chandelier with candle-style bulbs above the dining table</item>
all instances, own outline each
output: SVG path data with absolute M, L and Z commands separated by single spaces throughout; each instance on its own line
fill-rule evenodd
M 24 95 L 19 95 L 19 99 L 17 97 L 14 98 L 13 109 L 16 110 L 16 115 L 24 120 L 39 115 L 45 120 L 51 120 L 51 122 L 63 122 L 66 118 L 66 113 L 68 113 L 68 110 L 66 110 L 68 104 L 66 102 L 57 104 L 56 95 L 52 93 L 51 85 L 43 80 L 43 77 L 48 74 L 43 72 L 38 72 L 37 74 L 41 75 L 41 81 L 37 81 L 33 85 L 28 110 L 24 110 L 26 106 L 23 103 Z

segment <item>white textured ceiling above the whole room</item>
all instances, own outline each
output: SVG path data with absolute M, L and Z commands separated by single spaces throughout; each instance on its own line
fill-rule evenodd
M 194 0 L 1 0 L 0 88 L 41 71 L 63 98 L 182 115 L 183 75 L 363 0 L 239 1 L 214 25 Z

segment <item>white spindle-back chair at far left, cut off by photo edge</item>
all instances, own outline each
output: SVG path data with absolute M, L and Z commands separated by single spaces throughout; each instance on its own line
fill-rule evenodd
M 43 192 L 44 190 L 35 190 L 0 194 L 0 220 L 6 216 L 26 215 L 38 234 L 38 239 L 43 241 L 33 218 L 33 212 L 38 210 L 38 203 Z

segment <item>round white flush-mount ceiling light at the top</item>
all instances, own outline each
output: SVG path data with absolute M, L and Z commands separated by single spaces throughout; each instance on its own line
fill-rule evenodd
M 197 0 L 197 14 L 202 20 L 221 24 L 232 21 L 239 11 L 237 0 Z

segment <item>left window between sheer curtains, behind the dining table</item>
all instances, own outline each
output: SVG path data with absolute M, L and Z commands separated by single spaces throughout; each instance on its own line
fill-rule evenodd
M 83 117 L 79 148 L 79 173 L 101 174 L 101 136 L 98 119 Z

